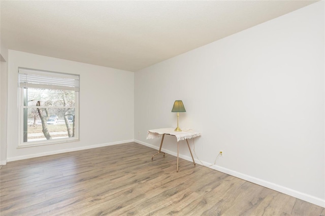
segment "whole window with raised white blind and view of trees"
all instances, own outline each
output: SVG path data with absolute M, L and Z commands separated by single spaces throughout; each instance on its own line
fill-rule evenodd
M 19 68 L 19 146 L 79 138 L 79 75 Z

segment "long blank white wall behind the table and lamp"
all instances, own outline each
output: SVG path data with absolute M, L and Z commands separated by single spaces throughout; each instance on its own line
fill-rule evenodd
M 176 127 L 183 100 L 204 163 L 223 150 L 214 169 L 325 207 L 324 57 L 318 2 L 137 71 L 135 139 L 157 149 L 147 130 Z M 175 155 L 175 138 L 163 149 Z

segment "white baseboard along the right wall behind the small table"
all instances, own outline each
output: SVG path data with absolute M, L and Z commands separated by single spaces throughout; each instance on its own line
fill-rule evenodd
M 140 140 L 137 140 L 137 139 L 135 139 L 135 142 L 140 143 L 141 145 L 150 147 L 152 149 L 156 149 L 156 150 L 159 149 L 159 147 L 153 146 L 153 145 L 151 145 L 149 143 L 146 143 L 146 142 L 143 142 L 143 141 L 140 141 Z M 161 149 L 161 150 L 163 152 L 167 153 L 167 154 L 177 156 L 176 152 L 172 152 L 172 151 L 169 151 L 169 150 L 164 149 L 164 148 Z M 186 156 L 186 155 L 181 155 L 180 154 L 179 157 L 184 159 L 184 160 L 187 160 L 187 161 L 192 161 L 192 158 L 189 157 L 189 156 Z M 198 159 L 194 159 L 194 160 L 195 160 L 195 162 L 197 164 L 201 164 L 201 165 L 208 164 L 205 161 L 202 161 L 204 163 L 204 164 L 202 164 Z M 235 176 L 235 177 L 238 177 L 238 178 L 241 178 L 241 179 L 244 179 L 244 180 L 246 180 L 248 182 L 251 182 L 251 183 L 254 183 L 254 184 L 257 184 L 257 185 L 261 185 L 261 186 L 266 187 L 266 188 L 270 188 L 272 190 L 281 192 L 283 194 L 287 194 L 289 196 L 296 197 L 298 199 L 301 199 L 301 200 L 304 200 L 306 202 L 310 202 L 312 204 L 319 205 L 319 206 L 325 208 L 325 200 L 324 199 L 320 199 L 318 197 L 314 197 L 314 196 L 311 196 L 309 194 L 305 194 L 305 193 L 302 193 L 300 191 L 296 191 L 296 190 L 293 190 L 293 189 L 290 189 L 290 188 L 286 188 L 286 187 L 283 187 L 281 185 L 277 185 L 277 184 L 265 181 L 263 179 L 259 179 L 259 178 L 256 178 L 256 177 L 253 177 L 253 176 L 250 176 L 250 175 L 246 175 L 244 173 L 240 173 L 240 172 L 237 172 L 237 171 L 234 171 L 234 170 L 231 170 L 231 169 L 227 169 L 227 168 L 224 168 L 224 167 L 221 167 L 221 166 L 213 165 L 213 166 L 209 166 L 209 168 L 220 171 L 220 172 L 223 172 L 223 173 L 226 173 L 226 174 L 229 174 L 229 175 L 232 175 L 232 176 Z

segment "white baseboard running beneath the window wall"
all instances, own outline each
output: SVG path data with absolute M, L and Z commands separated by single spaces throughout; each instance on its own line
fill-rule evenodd
M 18 157 L 7 158 L 7 161 L 8 162 L 18 161 L 18 160 L 24 160 L 24 159 L 29 159 L 29 158 L 37 158 L 37 157 L 43 157 L 43 156 L 48 156 L 48 155 L 67 153 L 67 152 L 75 152 L 75 151 L 86 150 L 86 149 L 94 149 L 94 148 L 105 147 L 105 146 L 113 146 L 113 145 L 118 145 L 118 144 L 122 144 L 122 143 L 133 142 L 133 141 L 134 141 L 134 139 L 129 139 L 129 140 L 116 141 L 116 142 L 101 143 L 101 144 L 92 145 L 92 146 L 83 146 L 83 147 L 72 148 L 72 149 L 62 149 L 62 150 L 51 151 L 51 152 L 42 152 L 42 153 L 32 154 L 32 155 L 23 155 L 23 156 L 18 156 Z

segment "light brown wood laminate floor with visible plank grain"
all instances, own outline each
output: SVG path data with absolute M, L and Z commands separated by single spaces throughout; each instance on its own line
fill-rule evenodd
M 325 209 L 131 142 L 9 162 L 4 215 L 325 215 Z

